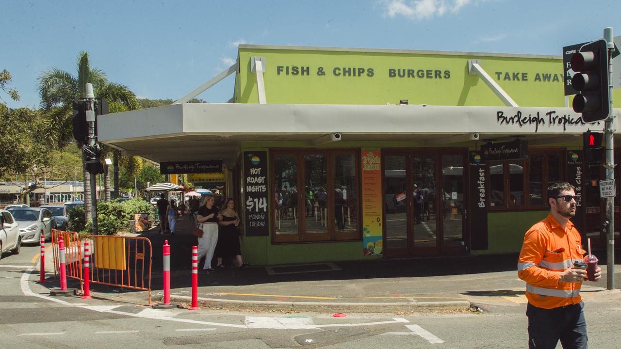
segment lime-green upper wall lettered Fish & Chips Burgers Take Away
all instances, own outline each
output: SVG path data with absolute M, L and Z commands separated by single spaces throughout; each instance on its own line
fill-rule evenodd
M 268 103 L 396 104 L 399 99 L 408 99 L 409 104 L 503 106 L 479 76 L 468 74 L 468 60 L 478 59 L 484 70 L 520 106 L 565 105 L 561 59 L 494 57 L 482 53 L 452 55 L 243 47 L 238 52 L 240 71 L 236 78 L 236 102 L 258 102 L 256 75 L 250 72 L 250 57 L 253 56 L 266 58 L 263 76 Z M 297 67 L 297 75 L 294 75 L 294 67 Z M 308 74 L 302 75 L 302 67 L 308 68 Z M 320 68 L 324 75 L 318 74 Z M 340 76 L 335 76 L 335 68 Z M 343 76 L 343 68 L 355 68 L 356 76 Z M 358 69 L 364 70 L 361 76 L 357 75 Z M 406 76 L 391 77 L 391 69 L 401 69 Z M 369 76 L 371 70 L 373 76 Z M 408 73 L 414 76 L 409 77 Z M 424 73 L 423 78 L 419 77 L 420 73 Z M 615 106 L 621 106 L 621 89 L 615 90 L 614 95 Z

